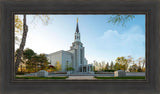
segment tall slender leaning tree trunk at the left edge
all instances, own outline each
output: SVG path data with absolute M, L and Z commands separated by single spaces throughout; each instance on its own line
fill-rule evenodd
M 28 26 L 26 25 L 26 14 L 24 14 L 24 19 L 23 19 L 23 36 L 22 36 L 22 41 L 17 53 L 17 59 L 15 62 L 15 72 L 18 71 L 18 67 L 21 61 L 21 57 L 22 57 L 22 53 L 23 53 L 23 49 L 26 43 L 26 38 L 27 38 L 27 32 L 28 32 Z

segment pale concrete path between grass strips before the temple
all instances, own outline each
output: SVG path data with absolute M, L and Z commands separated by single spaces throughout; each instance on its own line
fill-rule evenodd
M 94 76 L 69 76 L 66 80 L 95 80 Z

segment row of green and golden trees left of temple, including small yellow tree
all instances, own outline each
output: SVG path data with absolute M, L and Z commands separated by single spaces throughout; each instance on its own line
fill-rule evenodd
M 15 60 L 17 59 L 17 52 L 15 52 Z M 57 61 L 56 65 L 50 65 L 45 54 L 37 54 L 32 49 L 25 49 L 23 51 L 21 57 L 21 63 L 18 68 L 18 72 L 37 72 L 39 70 L 46 70 L 46 71 L 59 71 L 61 70 L 61 65 Z

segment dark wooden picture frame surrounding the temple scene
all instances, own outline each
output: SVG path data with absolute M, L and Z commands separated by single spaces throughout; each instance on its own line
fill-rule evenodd
M 1 1 L 1 94 L 160 94 L 160 2 L 152 0 L 28 0 Z M 15 80 L 13 15 L 34 14 L 146 14 L 146 80 Z

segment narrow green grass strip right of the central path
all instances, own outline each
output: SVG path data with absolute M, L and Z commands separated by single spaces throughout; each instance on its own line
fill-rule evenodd
M 131 76 L 131 77 L 95 77 L 96 79 L 145 79 L 145 76 Z

